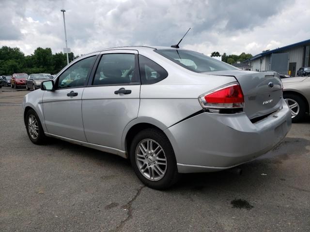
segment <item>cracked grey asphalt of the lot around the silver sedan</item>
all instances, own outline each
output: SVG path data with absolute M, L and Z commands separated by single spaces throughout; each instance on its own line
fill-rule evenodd
M 121 157 L 32 144 L 18 105 L 27 92 L 0 91 L 1 232 L 310 231 L 310 117 L 242 175 L 186 174 L 158 191 Z

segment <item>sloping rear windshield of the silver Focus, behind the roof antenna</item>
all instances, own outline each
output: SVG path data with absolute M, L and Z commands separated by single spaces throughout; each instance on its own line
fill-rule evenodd
M 195 73 L 238 70 L 232 65 L 219 61 L 215 58 L 205 56 L 198 52 L 177 49 L 159 49 L 154 51 Z

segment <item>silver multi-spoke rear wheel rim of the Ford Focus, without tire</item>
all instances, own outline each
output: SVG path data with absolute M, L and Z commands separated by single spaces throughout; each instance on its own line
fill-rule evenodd
M 149 180 L 160 180 L 166 174 L 167 158 L 165 152 L 152 139 L 144 139 L 138 144 L 136 163 L 140 173 Z

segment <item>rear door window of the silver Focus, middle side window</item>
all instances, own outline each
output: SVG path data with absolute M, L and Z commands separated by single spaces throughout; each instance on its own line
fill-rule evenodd
M 135 75 L 135 54 L 104 54 L 96 70 L 93 85 L 121 85 L 140 82 Z

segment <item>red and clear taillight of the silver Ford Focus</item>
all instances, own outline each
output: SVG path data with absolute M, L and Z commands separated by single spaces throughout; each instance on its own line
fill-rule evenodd
M 199 102 L 203 108 L 243 108 L 244 96 L 240 85 L 233 82 L 202 94 Z

